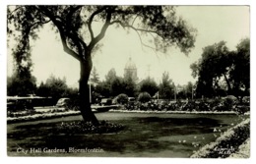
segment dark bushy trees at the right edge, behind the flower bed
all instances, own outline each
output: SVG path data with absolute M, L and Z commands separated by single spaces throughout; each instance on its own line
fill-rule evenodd
M 190 66 L 192 76 L 198 78 L 197 94 L 205 96 L 248 94 L 250 78 L 250 40 L 242 39 L 235 51 L 225 42 L 207 46 L 202 58 Z M 225 87 L 224 87 L 225 86 Z

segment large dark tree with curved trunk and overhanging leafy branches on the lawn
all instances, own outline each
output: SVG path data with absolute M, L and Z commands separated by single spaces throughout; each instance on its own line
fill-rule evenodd
M 108 27 L 135 30 L 140 38 L 149 33 L 157 50 L 176 45 L 188 53 L 195 42 L 195 30 L 176 16 L 172 6 L 8 6 L 7 22 L 8 34 L 17 41 L 13 48 L 17 65 L 26 60 L 38 29 L 50 24 L 56 30 L 63 50 L 80 62 L 80 111 L 85 121 L 94 124 L 98 122 L 91 110 L 88 80 L 92 53 Z M 93 29 L 95 22 L 101 25 L 98 33 Z

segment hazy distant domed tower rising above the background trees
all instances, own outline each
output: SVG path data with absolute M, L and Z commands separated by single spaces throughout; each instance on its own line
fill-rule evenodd
M 124 68 L 124 78 L 128 78 L 128 77 L 131 77 L 134 82 L 138 80 L 137 67 L 136 67 L 136 64 L 132 61 L 131 57 L 125 64 L 125 68 Z

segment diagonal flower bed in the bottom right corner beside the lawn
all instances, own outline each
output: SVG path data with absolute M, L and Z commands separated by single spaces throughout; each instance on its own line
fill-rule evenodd
M 206 144 L 191 158 L 226 158 L 239 150 L 239 146 L 250 137 L 249 118 L 227 130 L 216 141 Z

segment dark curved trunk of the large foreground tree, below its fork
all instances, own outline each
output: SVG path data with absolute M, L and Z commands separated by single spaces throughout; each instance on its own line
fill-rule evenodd
M 79 82 L 79 97 L 80 97 L 80 112 L 85 122 L 92 122 L 94 125 L 98 124 L 95 114 L 91 108 L 89 77 L 93 67 L 91 59 L 80 62 L 81 74 Z

